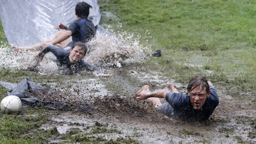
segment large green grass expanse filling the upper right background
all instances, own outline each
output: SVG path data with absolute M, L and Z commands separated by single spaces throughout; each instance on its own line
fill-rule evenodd
M 162 57 L 146 62 L 148 70 L 163 72 L 183 84 L 193 76 L 204 75 L 230 92 L 250 92 L 256 88 L 255 2 L 101 0 L 99 3 L 102 11 L 119 18 L 122 27 L 117 27 L 119 24 L 111 18 L 102 18 L 101 23 L 114 25 L 116 31 L 129 30 L 141 35 L 142 44 L 163 51 Z

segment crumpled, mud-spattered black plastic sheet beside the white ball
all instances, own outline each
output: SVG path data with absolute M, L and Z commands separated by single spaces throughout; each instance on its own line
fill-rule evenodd
M 62 100 L 65 96 L 59 91 L 46 88 L 33 82 L 29 78 L 23 79 L 18 84 L 1 82 L 5 88 L 12 88 L 7 95 L 16 95 L 20 98 L 23 107 L 44 106 L 52 110 L 79 110 L 91 113 L 93 110 L 87 100 L 77 102 L 73 100 Z

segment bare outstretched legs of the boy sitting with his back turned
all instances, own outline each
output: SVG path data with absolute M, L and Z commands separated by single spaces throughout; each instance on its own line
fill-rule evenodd
M 43 49 L 43 47 L 42 47 L 42 45 L 43 45 L 43 43 L 44 42 L 51 42 L 52 40 L 54 40 L 54 39 L 56 39 L 56 38 L 58 38 L 58 36 L 60 36 L 61 34 L 63 34 L 64 33 L 64 31 L 58 31 L 54 36 L 53 36 L 53 38 L 51 39 L 51 40 L 45 40 L 45 41 L 43 41 L 43 42 L 41 42 L 41 43 L 38 43 L 38 44 L 34 44 L 33 46 L 28 46 L 28 47 L 13 47 L 13 49 L 16 51 L 16 52 L 18 52 L 19 50 L 26 50 L 26 51 L 28 51 L 28 50 L 42 50 Z M 72 41 L 72 39 L 71 38 L 68 38 L 68 39 L 66 39 L 66 40 L 64 40 L 64 41 L 62 41 L 62 42 L 60 42 L 60 44 L 55 44 L 55 46 L 58 46 L 58 47 L 60 47 L 60 48 L 64 48 L 68 43 L 70 43 Z

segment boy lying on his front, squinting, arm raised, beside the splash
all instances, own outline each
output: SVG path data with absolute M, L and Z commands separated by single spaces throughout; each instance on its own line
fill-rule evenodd
M 68 69 L 70 72 L 69 74 L 86 70 L 99 71 L 100 74 L 97 76 L 109 76 L 109 74 L 103 74 L 104 70 L 102 68 L 95 67 L 82 60 L 87 52 L 87 46 L 82 42 L 74 44 L 70 51 L 66 51 L 54 45 L 46 46 L 38 55 L 35 56 L 34 63 L 29 67 L 29 69 L 35 71 L 39 62 L 42 61 L 44 55 L 48 52 L 52 52 L 57 57 L 57 66 Z

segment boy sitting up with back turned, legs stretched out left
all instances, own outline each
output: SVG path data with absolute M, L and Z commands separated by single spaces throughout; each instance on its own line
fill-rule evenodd
M 66 26 L 62 23 L 58 24 L 55 29 L 65 29 L 66 31 L 58 31 L 52 39 L 46 40 L 44 42 L 35 44 L 31 47 L 13 47 L 13 49 L 18 52 L 19 50 L 42 50 L 47 45 L 55 45 L 61 48 L 72 47 L 76 42 L 88 42 L 96 34 L 96 28 L 94 24 L 88 19 L 89 9 L 92 8 L 86 2 L 77 3 L 75 12 L 77 20 Z M 72 36 L 72 39 L 70 38 Z

